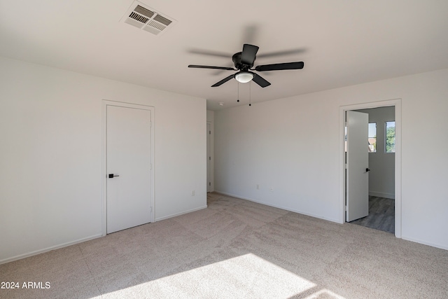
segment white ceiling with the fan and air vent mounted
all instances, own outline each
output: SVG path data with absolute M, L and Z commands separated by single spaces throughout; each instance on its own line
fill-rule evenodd
M 159 36 L 120 22 L 133 3 L 0 0 L 0 55 L 202 97 L 211 110 L 249 92 L 255 103 L 448 68 L 446 0 L 141 0 L 176 20 Z M 237 81 L 211 88 L 232 71 L 187 67 L 232 67 L 244 43 L 260 47 L 255 65 L 304 69 L 259 73 L 272 85 L 240 84 L 237 103 Z

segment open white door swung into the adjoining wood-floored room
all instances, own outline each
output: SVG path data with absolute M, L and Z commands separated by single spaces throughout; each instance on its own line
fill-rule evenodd
M 346 221 L 369 214 L 369 115 L 346 112 Z

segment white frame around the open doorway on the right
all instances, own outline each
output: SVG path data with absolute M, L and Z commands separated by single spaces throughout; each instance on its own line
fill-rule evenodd
M 395 237 L 401 238 L 401 99 L 339 106 L 339 222 L 345 223 L 345 112 L 395 106 Z

